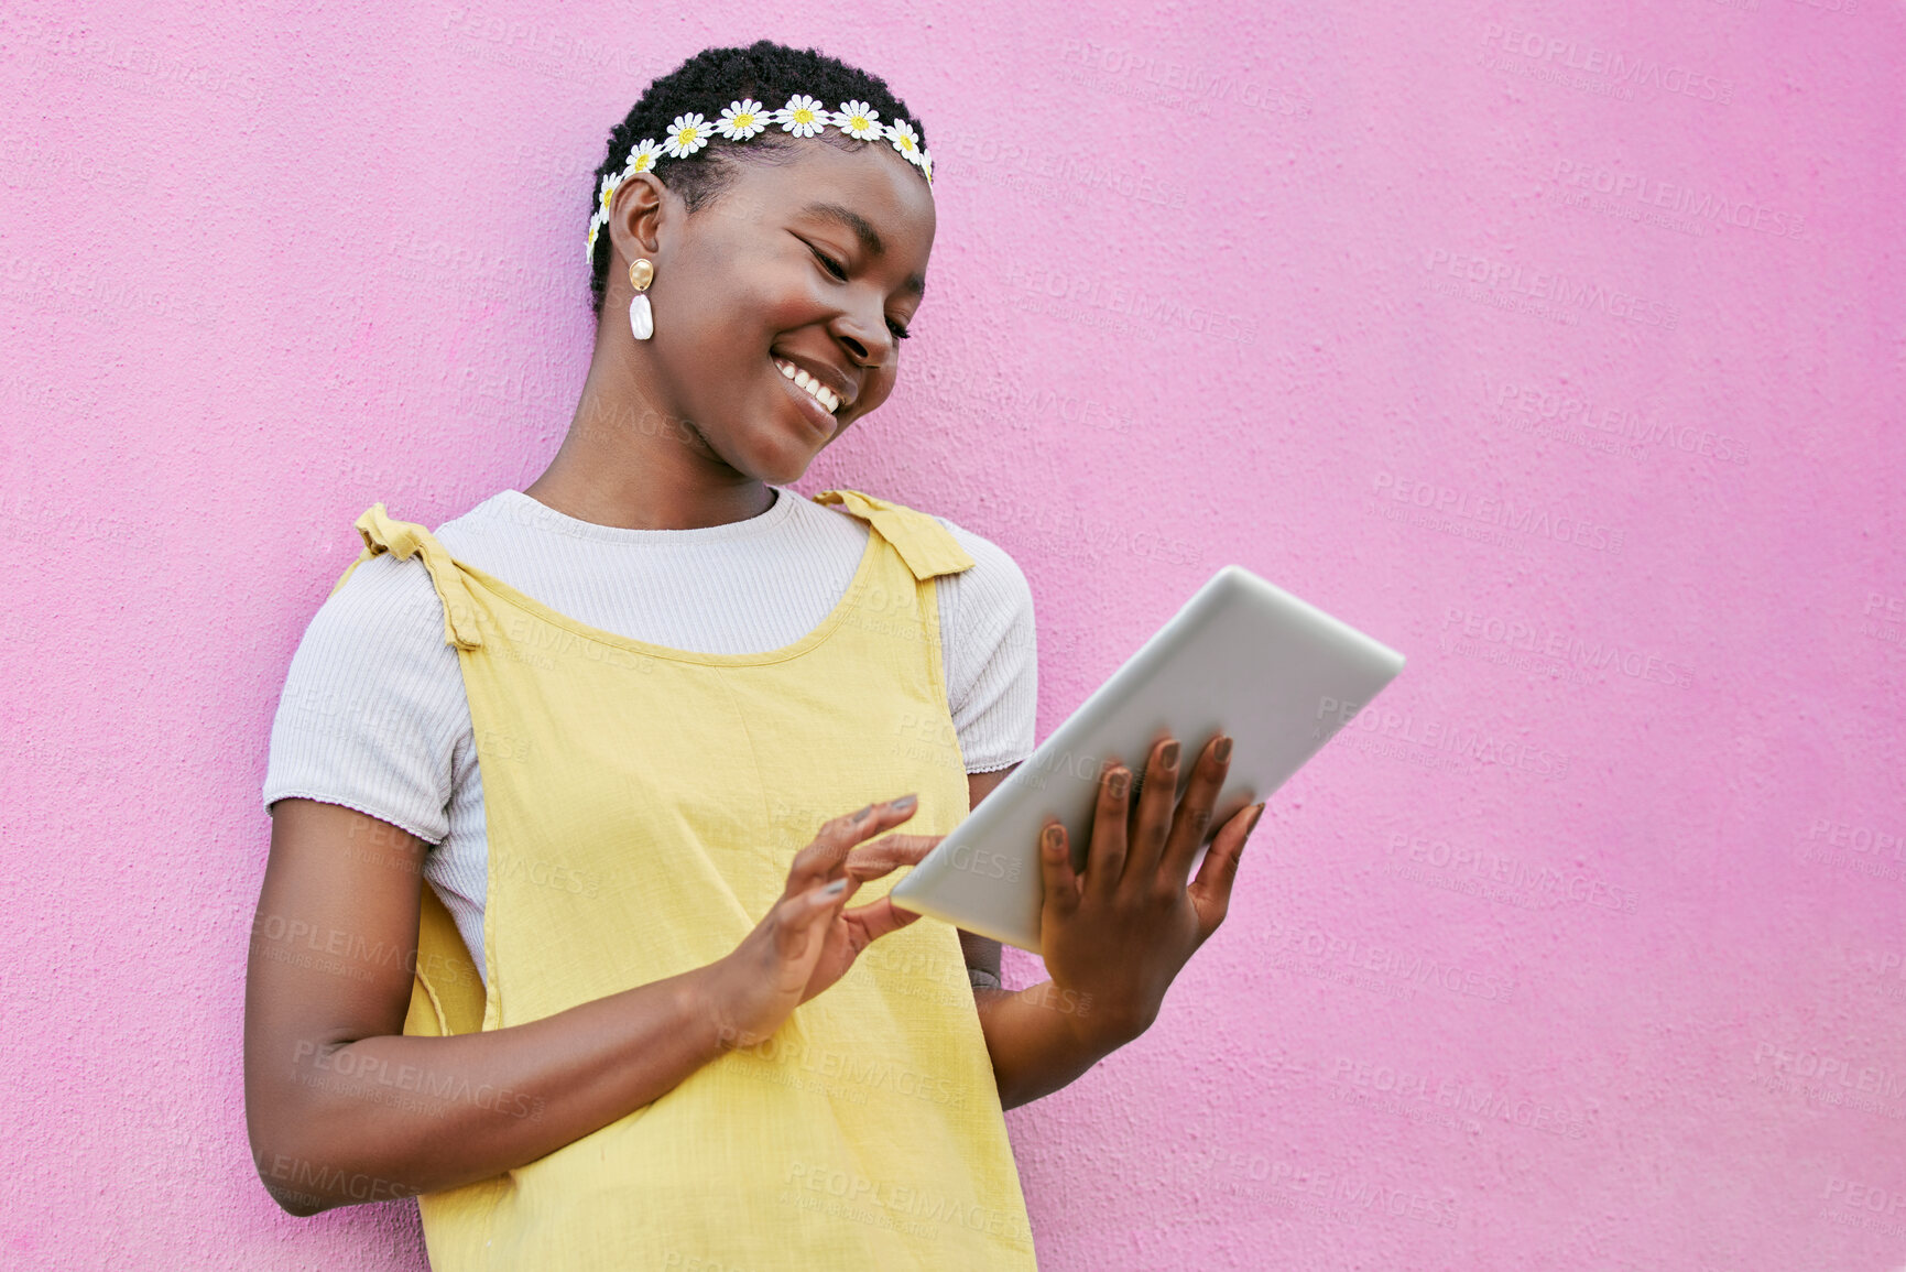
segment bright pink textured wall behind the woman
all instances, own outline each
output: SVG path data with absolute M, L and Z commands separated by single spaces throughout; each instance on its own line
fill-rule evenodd
M 1227 561 L 1410 656 L 1010 1114 L 1044 1264 L 1906 1262 L 1898 0 L 112 8 L 0 17 L 8 1266 L 421 1266 L 246 1154 L 271 715 L 364 507 L 541 471 L 602 139 L 757 34 L 943 174 L 802 490 L 1014 553 L 1041 736 Z

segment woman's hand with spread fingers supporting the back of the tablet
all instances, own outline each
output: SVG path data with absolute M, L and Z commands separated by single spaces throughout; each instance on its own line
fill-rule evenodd
M 1157 742 L 1136 809 L 1132 772 L 1109 765 L 1100 774 L 1085 873 L 1073 872 L 1064 826 L 1048 822 L 1041 833 L 1041 946 L 1054 988 L 1090 995 L 1092 1011 L 1081 1024 L 1117 1041 L 1144 1034 L 1178 971 L 1224 923 L 1239 852 L 1264 812 L 1256 803 L 1226 820 L 1189 879 L 1229 757 L 1231 740 L 1212 738 L 1178 801 L 1178 742 Z

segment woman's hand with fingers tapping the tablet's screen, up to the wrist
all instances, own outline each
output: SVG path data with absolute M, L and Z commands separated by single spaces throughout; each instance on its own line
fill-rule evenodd
M 865 843 L 911 818 L 917 807 L 913 795 L 903 795 L 837 816 L 795 854 L 781 898 L 734 954 L 709 969 L 724 1049 L 766 1041 L 795 1007 L 844 976 L 862 950 L 919 917 L 884 896 L 846 910 L 862 883 L 896 866 L 917 866 L 945 837 L 886 835 Z

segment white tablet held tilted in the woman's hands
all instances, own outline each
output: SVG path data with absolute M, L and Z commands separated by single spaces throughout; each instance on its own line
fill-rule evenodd
M 894 904 L 1039 954 L 1039 831 L 1058 818 L 1085 870 L 1107 757 L 1142 774 L 1170 734 L 1184 793 L 1205 742 L 1231 734 L 1220 826 L 1267 799 L 1399 671 L 1397 650 L 1227 564 L 894 885 Z

